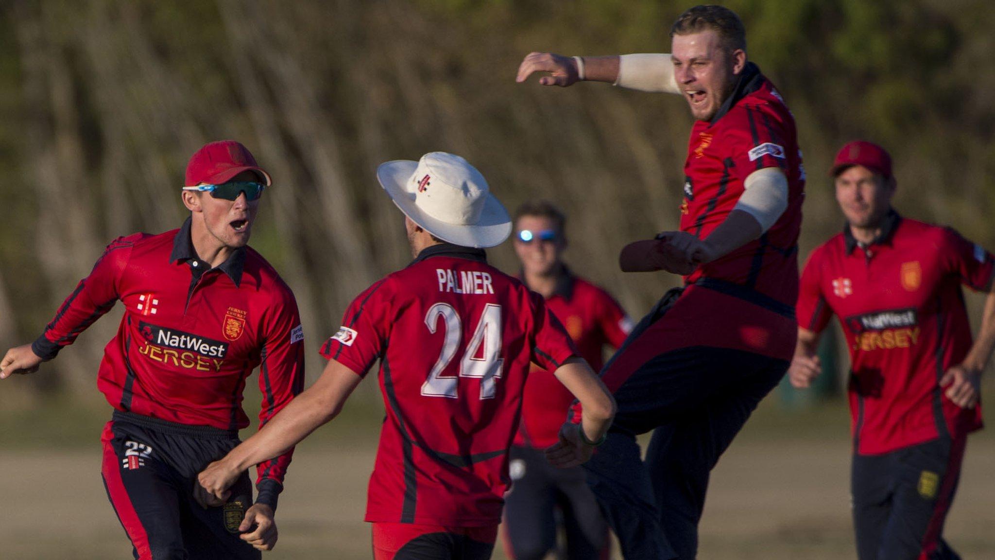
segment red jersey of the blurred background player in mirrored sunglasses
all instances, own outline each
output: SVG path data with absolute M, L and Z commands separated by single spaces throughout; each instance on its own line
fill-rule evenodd
M 608 292 L 564 270 L 546 307 L 566 328 L 580 357 L 595 372 L 604 365 L 605 345 L 622 346 L 632 330 L 632 320 Z M 515 445 L 544 448 L 559 438 L 573 395 L 551 371 L 532 365 L 525 382 L 521 422 Z

